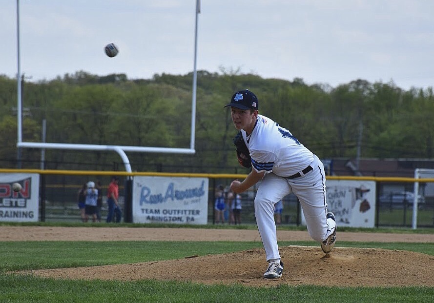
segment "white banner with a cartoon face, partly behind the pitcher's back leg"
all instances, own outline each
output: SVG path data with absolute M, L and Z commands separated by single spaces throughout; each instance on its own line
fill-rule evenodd
M 375 182 L 328 180 L 326 182 L 327 210 L 337 226 L 374 227 Z M 304 216 L 302 223 L 306 224 Z

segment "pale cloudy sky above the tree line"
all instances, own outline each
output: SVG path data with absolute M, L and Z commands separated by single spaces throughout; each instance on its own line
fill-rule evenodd
M 84 70 L 193 71 L 196 0 L 20 0 L 29 81 Z M 326 83 L 434 86 L 433 0 L 202 0 L 197 69 Z M 17 1 L 1 0 L 0 74 L 17 74 Z M 118 45 L 108 58 L 103 47 Z

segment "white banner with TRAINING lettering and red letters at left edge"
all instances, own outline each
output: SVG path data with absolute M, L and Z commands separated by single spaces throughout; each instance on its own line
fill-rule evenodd
M 14 192 L 13 183 L 21 190 Z M 0 174 L 0 222 L 38 222 L 39 175 Z

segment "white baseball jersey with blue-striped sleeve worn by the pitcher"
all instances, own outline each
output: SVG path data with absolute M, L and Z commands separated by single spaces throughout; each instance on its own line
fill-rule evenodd
M 313 162 L 313 153 L 292 136 L 288 129 L 268 117 L 258 115 L 249 136 L 241 131 L 257 172 L 273 172 L 280 177 L 292 176 Z

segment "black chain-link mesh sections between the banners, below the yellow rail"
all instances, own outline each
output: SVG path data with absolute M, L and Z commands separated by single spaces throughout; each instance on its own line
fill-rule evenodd
M 66 176 L 66 175 L 46 175 L 45 182 L 41 182 L 41 193 L 44 193 L 45 202 L 40 203 L 40 221 L 45 222 L 80 222 L 80 210 L 78 208 L 78 192 L 83 183 L 87 181 L 101 181 L 103 184 L 103 207 L 102 217 L 105 222 L 107 214 L 106 190 L 110 182 L 110 176 Z M 215 223 L 214 212 L 214 195 L 215 188 L 218 184 L 226 187 L 230 184 L 231 179 L 210 179 L 208 195 L 208 224 Z M 119 182 L 120 199 L 119 202 L 123 209 L 123 222 L 131 222 L 132 218 L 130 209 L 125 209 L 125 195 L 131 192 L 128 188 L 127 179 L 120 176 Z M 42 188 L 43 187 L 43 188 Z M 382 192 L 382 184 L 378 184 L 378 193 Z M 377 193 L 375 201 L 375 226 L 376 227 L 412 227 L 413 224 L 413 199 L 404 197 L 399 200 L 400 192 L 391 199 L 385 199 Z M 394 194 L 393 192 L 391 193 Z M 254 215 L 254 197 L 255 188 L 251 188 L 242 197 L 241 223 L 255 224 Z M 126 197 L 128 198 L 128 197 Z M 282 225 L 300 225 L 301 207 L 297 197 L 293 194 L 285 197 L 283 200 Z M 224 211 L 225 224 L 231 223 L 230 205 L 227 205 Z M 339 222 L 338 222 L 339 223 Z M 220 223 L 221 224 L 221 223 Z M 417 227 L 434 227 L 434 201 L 433 199 L 424 199 L 418 203 L 417 209 Z

